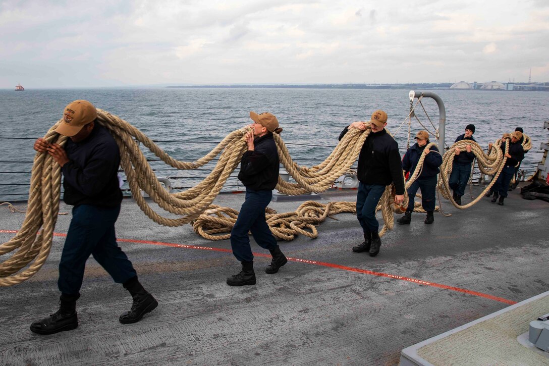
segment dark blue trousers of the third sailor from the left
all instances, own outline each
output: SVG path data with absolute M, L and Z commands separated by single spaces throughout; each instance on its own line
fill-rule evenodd
M 376 219 L 376 207 L 385 191 L 385 186 L 378 184 L 358 184 L 356 195 L 356 218 L 364 232 L 378 232 L 379 223 Z

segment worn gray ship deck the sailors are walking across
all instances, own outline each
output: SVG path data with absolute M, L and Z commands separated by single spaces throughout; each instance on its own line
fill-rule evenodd
M 270 259 L 257 256 L 257 285 L 243 287 L 225 284 L 239 271 L 228 240 L 207 241 L 189 225 L 154 224 L 125 200 L 117 236 L 143 241 L 120 245 L 159 307 L 139 323 L 120 324 L 131 298 L 91 258 L 77 303 L 79 328 L 33 334 L 30 323 L 57 306 L 64 239 L 56 236 L 33 278 L 0 288 L 0 363 L 397 364 L 403 348 L 548 290 L 549 203 L 526 201 L 518 189 L 509 193 L 503 207 L 489 198 L 467 210 L 443 201 L 452 217 L 435 214 L 433 225 L 413 214 L 411 225 L 385 235 L 375 258 L 351 252 L 361 229 L 354 215 L 339 214 L 320 225 L 318 239 L 281 242 L 293 260 L 278 274 L 265 274 Z M 322 197 L 354 201 L 355 194 Z M 243 199 L 220 195 L 215 203 L 239 209 Z M 300 203 L 270 207 L 286 212 Z M 0 218 L 0 230 L 18 230 L 23 214 L 2 208 Z M 60 216 L 55 232 L 65 233 L 69 221 Z M 11 236 L 0 233 L 3 241 Z M 266 254 L 255 243 L 252 249 Z

